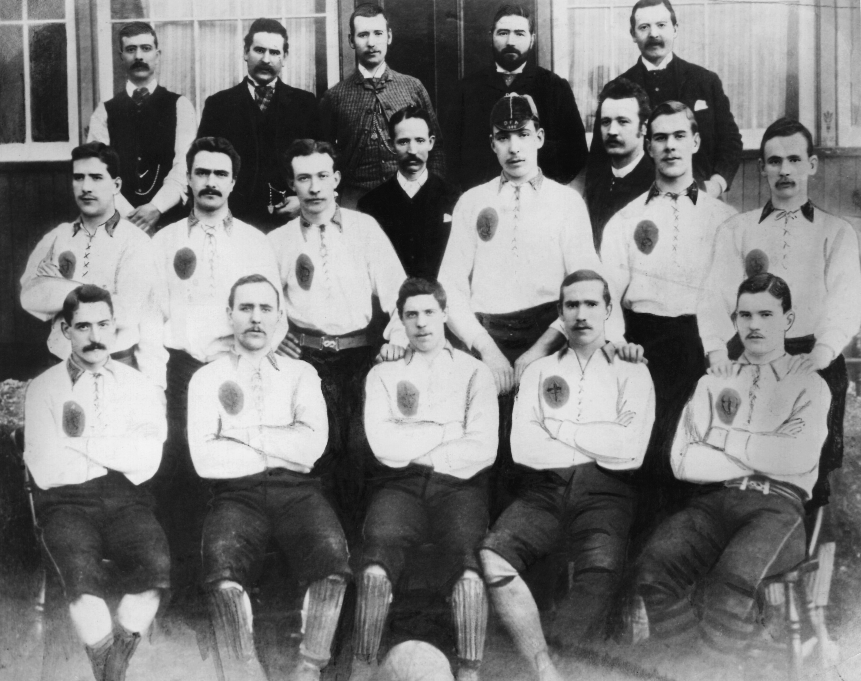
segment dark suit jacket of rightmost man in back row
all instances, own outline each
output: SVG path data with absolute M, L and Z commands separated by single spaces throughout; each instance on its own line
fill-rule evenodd
M 694 177 L 702 186 L 712 175 L 720 175 L 727 181 L 727 189 L 741 163 L 741 133 L 735 124 L 733 112 L 729 110 L 729 99 L 723 93 L 721 78 L 713 71 L 684 61 L 678 54 L 672 55 L 667 65 L 672 70 L 678 90 L 679 101 L 694 112 L 700 133 L 700 148 L 694 154 Z M 649 101 L 655 107 L 666 97 L 649 92 L 646 83 L 646 67 L 641 59 L 620 77 L 628 78 L 648 92 Z M 700 103 L 697 107 L 697 102 Z M 698 110 L 697 110 L 698 109 Z M 595 121 L 592 137 L 592 153 L 605 154 L 601 144 L 601 121 Z

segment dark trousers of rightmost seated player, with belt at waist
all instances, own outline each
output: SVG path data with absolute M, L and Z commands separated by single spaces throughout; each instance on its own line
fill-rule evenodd
M 729 487 L 691 498 L 637 562 L 650 635 L 672 638 L 698 626 L 713 647 L 745 647 L 763 580 L 803 560 L 805 541 L 800 501 Z

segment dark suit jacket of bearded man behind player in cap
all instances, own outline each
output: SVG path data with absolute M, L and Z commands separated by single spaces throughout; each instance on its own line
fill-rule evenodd
M 496 65 L 461 79 L 446 116 L 451 179 L 471 189 L 499 175 L 499 161 L 490 148 L 490 112 L 509 92 L 530 95 L 544 128 L 538 164 L 544 174 L 569 183 L 586 163 L 585 129 L 567 80 L 536 66 L 530 59 L 523 72 L 505 85 Z

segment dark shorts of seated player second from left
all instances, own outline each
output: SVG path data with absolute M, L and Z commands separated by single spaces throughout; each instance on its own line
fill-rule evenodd
M 203 525 L 203 583 L 249 585 L 275 539 L 301 582 L 350 575 L 347 540 L 320 481 L 285 468 L 212 485 Z

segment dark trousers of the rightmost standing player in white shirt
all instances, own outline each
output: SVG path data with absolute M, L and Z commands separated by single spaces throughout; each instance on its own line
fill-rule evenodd
M 790 355 L 802 355 L 813 350 L 816 344 L 814 336 L 787 338 L 784 349 Z M 744 351 L 744 346 L 736 334 L 727 344 L 730 359 L 738 359 Z M 822 445 L 819 459 L 819 479 L 813 487 L 813 494 L 807 503 L 808 511 L 828 503 L 831 485 L 828 474 L 843 465 L 843 415 L 846 412 L 846 390 L 849 388 L 849 376 L 846 374 L 846 360 L 842 355 L 834 358 L 826 368 L 816 372 L 821 375 L 831 390 L 831 408 L 828 410 L 828 436 Z

